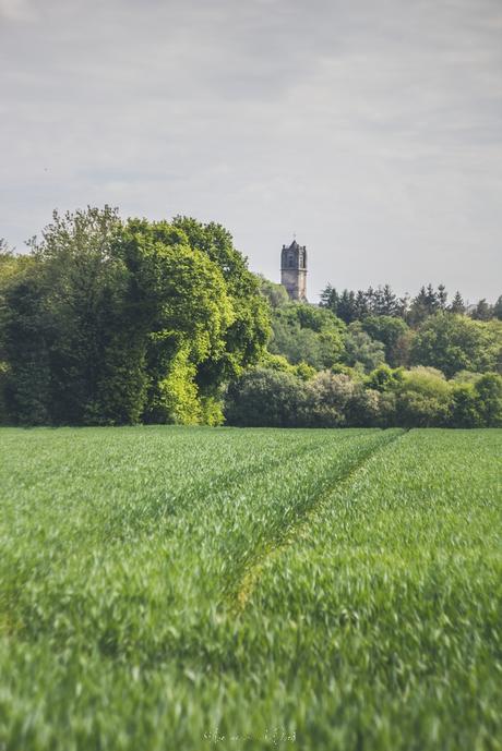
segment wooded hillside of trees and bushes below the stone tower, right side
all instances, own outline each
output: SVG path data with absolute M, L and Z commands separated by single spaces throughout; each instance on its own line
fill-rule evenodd
M 314 306 L 291 303 L 282 286 L 264 278 L 261 289 L 272 311 L 267 361 L 230 384 L 230 424 L 502 425 L 502 322 L 497 316 L 480 320 L 447 305 L 444 287 L 422 288 L 406 305 L 389 286 L 370 290 L 357 317 L 335 315 L 327 295 Z M 347 298 L 358 294 L 338 295 Z

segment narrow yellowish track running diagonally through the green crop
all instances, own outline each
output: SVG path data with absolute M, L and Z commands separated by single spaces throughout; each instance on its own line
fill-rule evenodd
M 235 588 L 230 593 L 228 599 L 231 611 L 234 611 L 236 615 L 242 613 L 265 565 L 268 565 L 271 560 L 277 558 L 286 548 L 294 544 L 298 536 L 301 536 L 302 532 L 307 530 L 313 518 L 330 500 L 333 493 L 345 487 L 349 488 L 355 482 L 357 475 L 363 468 L 367 467 L 369 461 L 371 461 L 379 453 L 382 453 L 389 449 L 389 447 L 395 444 L 397 440 L 401 440 L 408 432 L 409 428 L 403 428 L 401 433 L 392 435 L 387 440 L 382 440 L 381 444 L 371 447 L 356 465 L 352 465 L 345 474 L 338 475 L 336 482 L 334 482 L 332 485 L 328 485 L 328 487 L 319 494 L 306 513 L 289 528 L 285 538 L 275 544 L 273 541 L 271 542 L 271 545 L 266 548 L 266 550 L 262 552 L 262 554 L 248 566 L 243 576 L 240 578 L 237 588 Z

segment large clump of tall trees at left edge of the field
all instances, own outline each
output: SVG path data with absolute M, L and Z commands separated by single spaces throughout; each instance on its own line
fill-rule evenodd
M 190 237 L 190 240 L 189 240 Z M 225 380 L 268 335 L 254 276 L 218 225 L 53 214 L 0 257 L 0 361 L 22 424 L 222 422 Z

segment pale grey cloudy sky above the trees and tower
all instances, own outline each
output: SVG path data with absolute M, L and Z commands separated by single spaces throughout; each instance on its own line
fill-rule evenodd
M 279 280 L 502 293 L 501 0 L 0 0 L 0 237 L 218 221 Z

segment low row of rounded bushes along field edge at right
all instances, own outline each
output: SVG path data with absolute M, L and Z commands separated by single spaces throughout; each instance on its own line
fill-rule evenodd
M 502 377 L 447 381 L 432 367 L 380 365 L 364 378 L 320 372 L 306 380 L 277 363 L 228 389 L 230 425 L 289 427 L 490 427 L 502 420 Z

